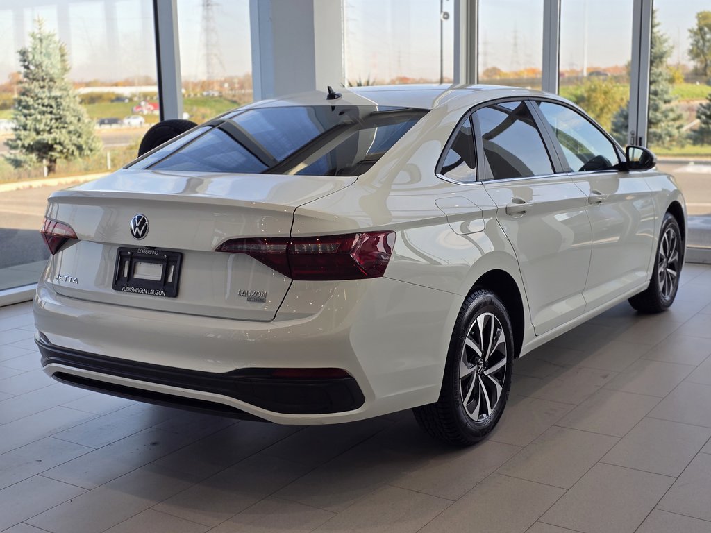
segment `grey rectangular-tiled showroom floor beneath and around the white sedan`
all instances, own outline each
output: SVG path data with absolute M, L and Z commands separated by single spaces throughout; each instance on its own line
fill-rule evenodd
M 30 306 L 0 308 L 0 531 L 711 532 L 711 267 L 515 365 L 479 446 L 410 412 L 307 428 L 52 382 Z

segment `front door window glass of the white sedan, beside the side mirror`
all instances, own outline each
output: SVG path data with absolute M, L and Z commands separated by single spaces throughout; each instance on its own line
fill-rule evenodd
M 614 145 L 581 114 L 550 102 L 536 103 L 573 172 L 604 171 L 619 163 Z

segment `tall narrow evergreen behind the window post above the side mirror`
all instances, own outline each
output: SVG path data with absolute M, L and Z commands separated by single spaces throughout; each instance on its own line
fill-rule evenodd
M 656 11 L 652 14 L 652 38 L 649 56 L 649 113 L 647 124 L 647 145 L 669 146 L 679 141 L 681 135 L 681 113 L 671 105 L 672 74 L 667 66 L 673 46 L 669 38 L 659 29 Z M 621 107 L 612 119 L 614 136 L 622 144 L 627 144 L 627 124 L 629 123 L 629 103 Z

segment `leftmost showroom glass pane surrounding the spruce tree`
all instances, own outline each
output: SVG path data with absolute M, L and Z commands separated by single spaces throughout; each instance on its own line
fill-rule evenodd
M 68 79 L 99 139 L 92 156 L 58 161 L 45 186 L 43 163 L 11 165 L 13 105 L 21 90 L 18 50 L 41 23 L 64 43 Z M 46 198 L 134 158 L 159 119 L 154 20 L 144 0 L 0 0 L 0 294 L 36 283 L 48 257 L 39 229 Z M 30 186 L 32 185 L 32 188 Z

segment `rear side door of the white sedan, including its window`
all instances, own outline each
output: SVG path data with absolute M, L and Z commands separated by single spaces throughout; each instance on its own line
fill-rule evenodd
M 528 102 L 474 112 L 488 179 L 484 187 L 520 266 L 535 333 L 582 315 L 590 264 L 587 196 L 549 154 Z

